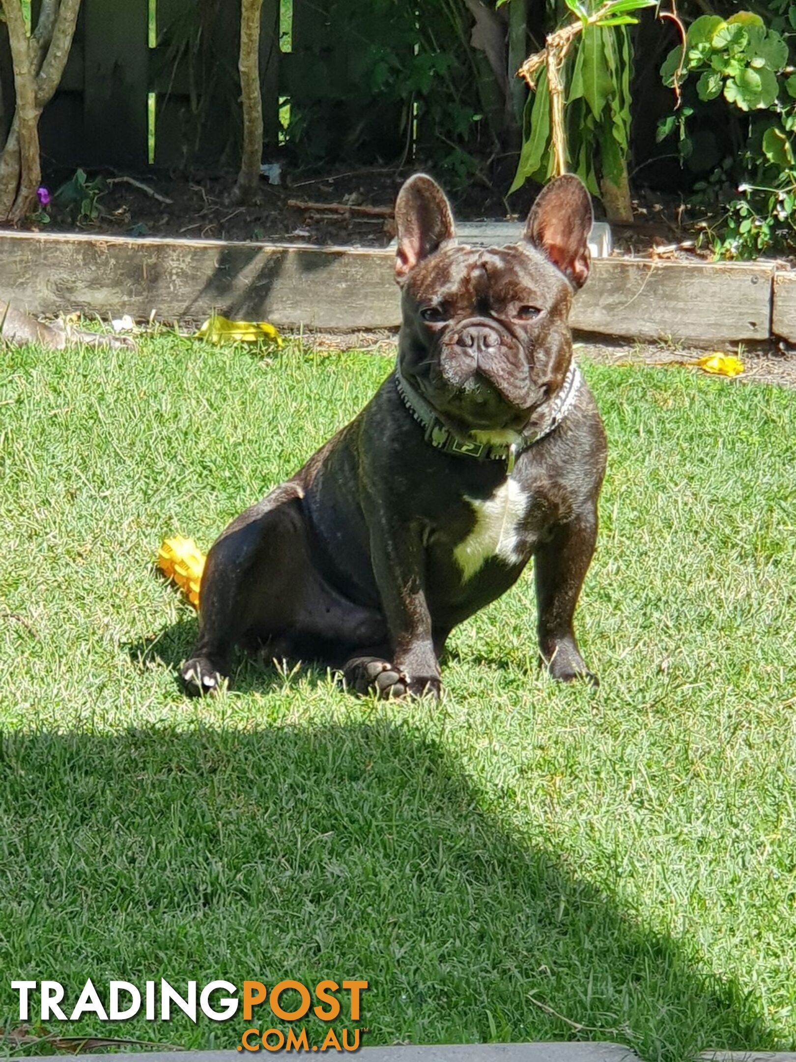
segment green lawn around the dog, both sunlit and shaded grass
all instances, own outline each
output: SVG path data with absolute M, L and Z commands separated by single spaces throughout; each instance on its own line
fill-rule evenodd
M 169 337 L 0 359 L 0 1026 L 12 978 L 74 1003 L 89 976 L 364 977 L 366 1044 L 796 1043 L 793 392 L 585 361 L 598 692 L 539 674 L 525 577 L 454 633 L 438 707 L 245 663 L 196 703 L 161 538 L 208 547 L 391 362 Z

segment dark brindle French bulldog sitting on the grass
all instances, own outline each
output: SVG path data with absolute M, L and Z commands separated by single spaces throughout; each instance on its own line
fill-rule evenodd
M 505 459 L 435 448 L 392 374 L 292 479 L 233 520 L 207 559 L 189 692 L 215 688 L 242 645 L 342 667 L 382 696 L 438 695 L 456 623 L 500 597 L 533 556 L 541 658 L 592 678 L 572 620 L 594 551 L 605 433 L 585 384 L 549 424 L 567 376 L 573 288 L 587 277 L 591 202 L 551 183 L 524 241 L 458 246 L 442 190 L 422 174 L 396 204 L 398 361 L 457 439 L 519 444 Z M 515 450 L 517 452 L 517 450 Z

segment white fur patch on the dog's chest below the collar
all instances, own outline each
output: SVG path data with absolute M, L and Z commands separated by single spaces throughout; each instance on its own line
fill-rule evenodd
M 504 564 L 518 564 L 522 560 L 519 529 L 527 510 L 527 493 L 509 478 L 485 501 L 466 500 L 475 513 L 475 527 L 453 551 L 464 582 L 472 579 L 490 556 Z

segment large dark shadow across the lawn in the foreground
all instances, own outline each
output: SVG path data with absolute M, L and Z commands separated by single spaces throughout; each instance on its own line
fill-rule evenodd
M 11 735 L 0 756 L 0 1013 L 12 977 L 72 1001 L 88 977 L 363 977 L 365 1044 L 771 1046 L 757 999 L 513 835 L 408 725 Z M 231 1048 L 248 1024 L 69 1032 Z

